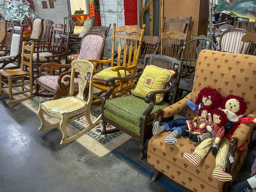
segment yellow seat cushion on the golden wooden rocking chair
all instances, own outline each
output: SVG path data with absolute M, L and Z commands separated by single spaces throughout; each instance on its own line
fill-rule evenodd
M 121 77 L 124 77 L 124 70 L 119 70 Z M 129 76 L 129 73 L 126 72 L 126 76 Z M 109 77 L 117 77 L 117 71 L 113 71 L 111 67 L 108 67 L 106 69 L 103 69 L 99 73 L 93 75 L 93 81 L 98 82 L 98 83 L 104 83 L 105 80 Z M 116 81 L 118 83 L 118 81 Z

